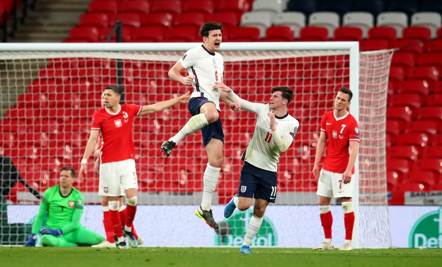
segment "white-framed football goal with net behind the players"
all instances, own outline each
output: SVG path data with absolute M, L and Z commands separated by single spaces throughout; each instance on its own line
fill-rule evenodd
M 0 183 L 1 244 L 23 244 L 29 236 L 38 212 L 38 194 L 32 188 L 42 195 L 58 183 L 61 167 L 79 169 L 91 116 L 100 108 L 104 86 L 121 82 L 125 103 L 138 105 L 192 90 L 170 80 L 168 70 L 198 44 L 168 44 L 166 48 L 155 44 L 82 45 L 54 44 L 36 50 L 36 44 L 29 44 L 0 52 L 4 108 L 0 154 L 11 159 L 19 173 L 17 177 L 10 172 L 11 178 L 3 174 Z M 346 86 L 354 92 L 351 113 L 358 119 L 361 133 L 355 164 L 358 188 L 353 239 L 361 248 L 390 247 L 385 113 L 392 51 L 359 53 L 357 42 L 293 42 L 283 46 L 224 43 L 221 53 L 225 83 L 243 99 L 266 103 L 271 88 L 293 88 L 289 112 L 300 122 L 293 145 L 278 165 L 277 201 L 268 206 L 252 245 L 313 247 L 322 242 L 317 180 L 311 171 L 321 117 L 332 109 L 337 90 Z M 140 189 L 134 227 L 144 238 L 144 246 L 240 246 L 252 208 L 236 211 L 229 219 L 223 217 L 223 209 L 238 191 L 240 156 L 254 132 L 255 114 L 244 110 L 236 114 L 221 103 L 225 158 L 212 202 L 220 226 L 217 232 L 194 216 L 207 164 L 201 133 L 186 137 L 168 158 L 160 153 L 161 143 L 190 117 L 183 104 L 136 118 L 133 139 Z M 81 223 L 104 235 L 92 159 L 88 169 L 86 181 L 74 184 L 87 204 Z M 332 203 L 333 241 L 340 246 L 345 233 L 343 211 L 339 203 Z

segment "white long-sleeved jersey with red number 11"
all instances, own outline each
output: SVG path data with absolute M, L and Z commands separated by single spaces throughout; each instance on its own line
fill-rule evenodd
M 270 127 L 270 118 L 267 113 L 272 112 L 270 104 L 251 103 L 240 99 L 234 92 L 227 94 L 229 99 L 240 103 L 241 108 L 256 113 L 255 132 L 244 150 L 241 159 L 257 168 L 276 172 L 279 163 L 279 151 L 274 142 Z M 299 122 L 288 113 L 285 116 L 275 116 L 276 134 L 286 143 L 286 150 L 292 144 L 297 133 Z

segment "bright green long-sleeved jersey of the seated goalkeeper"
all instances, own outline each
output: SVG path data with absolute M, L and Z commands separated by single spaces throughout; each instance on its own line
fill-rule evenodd
M 46 227 L 61 229 L 63 234 L 70 233 L 80 227 L 80 219 L 84 209 L 84 197 L 80 191 L 72 187 L 71 193 L 64 197 L 60 193 L 60 185 L 45 191 L 37 218 L 32 225 L 32 233 L 38 234 L 47 216 Z

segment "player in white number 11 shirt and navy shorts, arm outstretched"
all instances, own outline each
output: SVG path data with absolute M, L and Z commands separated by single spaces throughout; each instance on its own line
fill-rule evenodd
M 228 218 L 233 211 L 247 210 L 255 198 L 253 216 L 250 218 L 247 233 L 240 253 L 250 254 L 250 244 L 263 222 L 264 212 L 269 202 L 276 199 L 276 171 L 280 153 L 285 152 L 292 144 L 297 133 L 299 122 L 287 112 L 293 97 L 293 90 L 288 87 L 271 89 L 270 104 L 251 103 L 240 99 L 225 84 L 217 84 L 229 99 L 239 103 L 241 108 L 257 115 L 255 132 L 241 157 L 244 165 L 241 170 L 238 194 L 225 206 L 224 217 Z

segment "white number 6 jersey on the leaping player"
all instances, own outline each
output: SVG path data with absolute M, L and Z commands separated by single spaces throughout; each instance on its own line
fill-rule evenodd
M 206 97 L 213 101 L 220 110 L 221 89 L 213 89 L 216 82 L 221 82 L 224 72 L 224 59 L 220 53 L 210 53 L 204 45 L 188 50 L 179 60 L 189 75 L 194 75 L 192 97 Z

